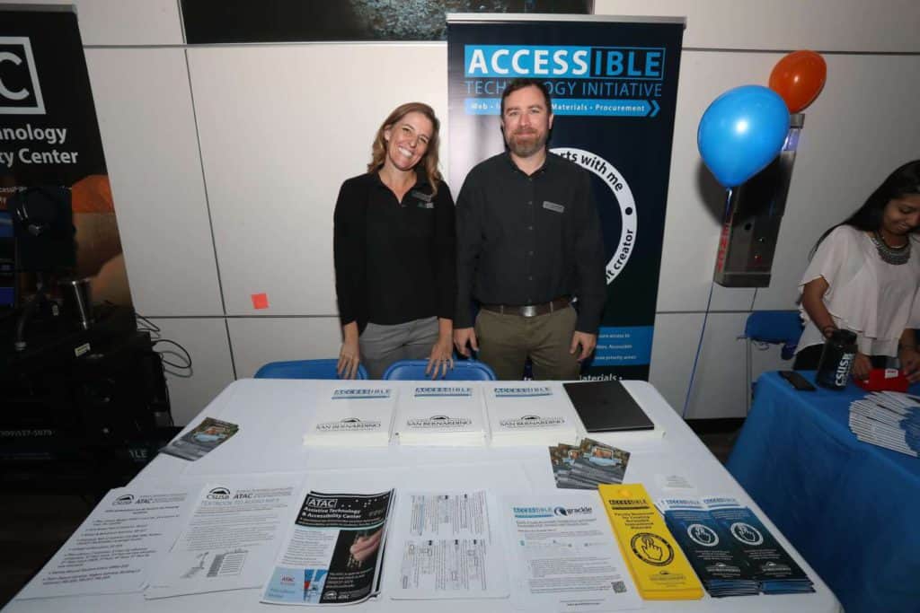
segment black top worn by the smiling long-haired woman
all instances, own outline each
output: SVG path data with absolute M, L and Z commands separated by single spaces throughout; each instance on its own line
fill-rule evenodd
M 402 202 L 377 173 L 342 184 L 333 252 L 341 324 L 404 324 L 454 315 L 454 200 L 419 176 Z

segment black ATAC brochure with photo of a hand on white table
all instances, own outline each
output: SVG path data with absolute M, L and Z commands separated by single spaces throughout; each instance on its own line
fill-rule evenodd
M 306 494 L 262 602 L 351 605 L 378 591 L 394 491 Z

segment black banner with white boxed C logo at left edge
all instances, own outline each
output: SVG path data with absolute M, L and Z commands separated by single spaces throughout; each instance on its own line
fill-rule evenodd
M 30 187 L 69 191 L 75 270 L 93 301 L 130 304 L 115 207 L 73 6 L 0 6 L 0 305 L 12 284 L 9 201 Z

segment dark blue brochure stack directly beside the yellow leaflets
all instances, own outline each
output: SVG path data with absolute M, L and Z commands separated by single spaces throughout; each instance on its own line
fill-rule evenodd
M 662 498 L 658 508 L 709 596 L 752 596 L 760 592 L 750 565 L 707 505 L 695 498 Z

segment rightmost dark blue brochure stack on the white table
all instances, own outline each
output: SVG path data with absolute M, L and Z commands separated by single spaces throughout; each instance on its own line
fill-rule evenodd
M 726 496 L 707 497 L 701 502 L 722 531 L 731 537 L 732 546 L 740 551 L 742 560 L 760 584 L 761 592 L 803 594 L 814 591 L 805 571 L 751 509 Z

